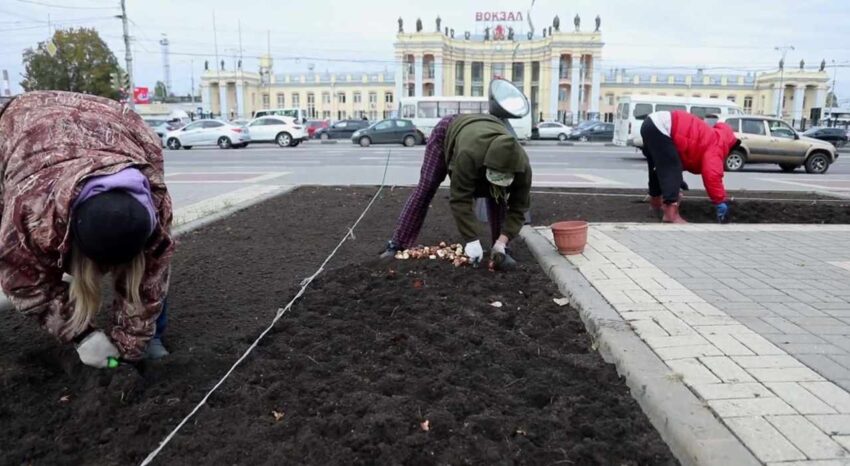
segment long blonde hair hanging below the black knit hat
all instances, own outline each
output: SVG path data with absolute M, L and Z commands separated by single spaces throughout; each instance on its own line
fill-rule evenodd
M 101 283 L 103 276 L 111 272 L 115 287 L 122 285 L 130 303 L 131 314 L 141 311 L 140 289 L 145 273 L 145 255 L 139 253 L 126 264 L 110 266 L 104 270 L 95 261 L 83 254 L 76 246 L 71 252 L 71 286 L 69 296 L 74 303 L 74 312 L 68 322 L 67 332 L 82 332 L 94 320 L 100 310 Z

